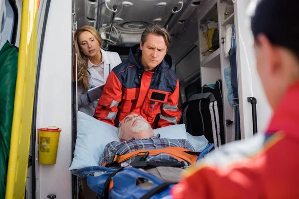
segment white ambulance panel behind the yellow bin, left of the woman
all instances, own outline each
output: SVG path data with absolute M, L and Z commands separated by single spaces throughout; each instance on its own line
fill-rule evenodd
M 72 157 L 71 13 L 71 0 L 51 0 L 42 51 L 36 129 L 58 126 L 62 131 L 56 164 L 37 162 L 37 199 L 46 199 L 49 194 L 56 195 L 57 199 L 72 197 L 71 173 L 68 170 Z

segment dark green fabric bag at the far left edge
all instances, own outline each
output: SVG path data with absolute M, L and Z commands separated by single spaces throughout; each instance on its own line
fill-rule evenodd
M 0 49 L 0 199 L 6 189 L 17 59 L 18 49 L 6 42 Z

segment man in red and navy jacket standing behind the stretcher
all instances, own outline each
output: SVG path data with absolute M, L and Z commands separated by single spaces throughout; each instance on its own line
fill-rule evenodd
M 141 35 L 140 44 L 130 49 L 128 60 L 109 74 L 94 117 L 115 125 L 129 112 L 142 115 L 159 128 L 177 124 L 179 83 L 171 69 L 167 49 L 171 36 L 159 25 L 150 25 Z

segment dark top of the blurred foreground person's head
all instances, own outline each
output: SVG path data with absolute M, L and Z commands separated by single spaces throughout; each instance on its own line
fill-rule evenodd
M 285 47 L 299 59 L 299 0 L 255 0 L 251 4 L 251 29 L 256 44 L 263 33 L 273 45 Z M 256 6 L 256 7 L 254 7 Z

